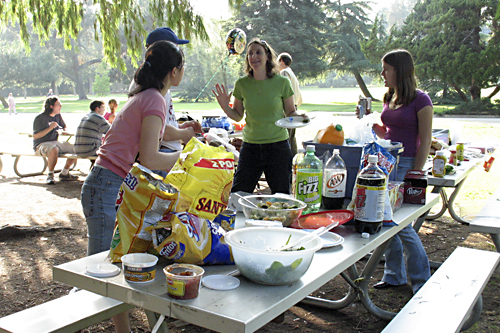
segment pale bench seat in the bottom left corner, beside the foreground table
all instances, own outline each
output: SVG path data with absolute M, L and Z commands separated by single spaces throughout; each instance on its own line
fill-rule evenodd
M 80 290 L 0 318 L 0 332 L 73 333 L 132 307 L 112 298 Z

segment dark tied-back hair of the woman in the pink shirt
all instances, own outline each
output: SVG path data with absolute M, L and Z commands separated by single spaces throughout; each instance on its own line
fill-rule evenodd
M 134 75 L 137 87 L 128 96 L 132 97 L 149 88 L 162 90 L 165 77 L 174 69 L 184 65 L 184 53 L 172 42 L 158 41 L 146 50 L 146 57 Z

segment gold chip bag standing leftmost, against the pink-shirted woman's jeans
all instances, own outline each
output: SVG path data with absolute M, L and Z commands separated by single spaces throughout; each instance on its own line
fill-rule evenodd
M 147 252 L 153 248 L 148 226 L 158 223 L 173 211 L 178 191 L 163 183 L 163 178 L 140 164 L 134 164 L 118 192 L 116 225 L 111 241 L 112 262 L 120 262 L 127 253 Z

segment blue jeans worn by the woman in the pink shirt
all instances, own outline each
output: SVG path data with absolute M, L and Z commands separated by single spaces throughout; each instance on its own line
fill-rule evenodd
M 87 255 L 109 250 L 116 220 L 116 198 L 123 178 L 94 166 L 82 186 L 82 207 L 87 221 Z

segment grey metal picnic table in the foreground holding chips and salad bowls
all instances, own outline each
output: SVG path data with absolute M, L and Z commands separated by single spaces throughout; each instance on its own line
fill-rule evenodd
M 107 260 L 107 251 L 74 260 L 53 267 L 56 281 L 107 296 L 121 302 L 144 308 L 162 316 L 205 327 L 218 332 L 254 332 L 278 315 L 308 298 L 308 295 L 341 275 L 351 286 L 349 293 L 341 300 L 318 300 L 308 298 L 307 302 L 341 308 L 354 302 L 357 297 L 367 310 L 378 318 L 390 320 L 395 313 L 378 308 L 370 299 L 368 285 L 388 241 L 402 228 L 415 219 L 424 219 L 427 212 L 439 201 L 439 195 L 428 193 L 425 205 L 403 204 L 394 214 L 395 227 L 383 227 L 369 238 L 362 238 L 353 225 L 342 225 L 334 229 L 344 238 L 344 243 L 318 251 L 302 278 L 290 285 L 264 286 L 239 276 L 240 286 L 230 291 L 216 291 L 202 287 L 197 298 L 176 300 L 168 296 L 163 267 L 157 265 L 156 279 L 146 284 L 132 284 L 124 280 L 123 273 L 110 278 L 95 278 L 85 274 L 90 264 Z M 245 218 L 241 213 L 236 217 L 236 228 L 243 227 Z M 358 272 L 355 264 L 368 253 L 373 255 L 364 269 Z M 229 274 L 234 265 L 204 266 L 205 276 Z M 347 272 L 347 273 L 346 273 Z M 84 304 L 81 304 L 84 306 Z M 151 327 L 156 323 L 151 322 Z M 165 325 L 162 325 L 165 326 Z M 157 326 L 158 327 L 158 326 Z

